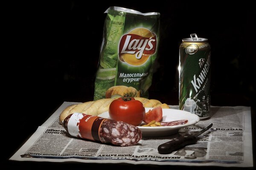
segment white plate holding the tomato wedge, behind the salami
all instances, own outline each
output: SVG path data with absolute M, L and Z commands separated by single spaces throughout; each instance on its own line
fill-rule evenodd
M 148 112 L 149 109 L 145 108 L 145 111 Z M 100 115 L 100 117 L 108 118 L 108 111 L 104 112 Z M 182 127 L 186 127 L 189 125 L 194 125 L 199 122 L 200 118 L 196 114 L 189 113 L 187 111 L 180 111 L 176 109 L 163 109 L 163 120 L 162 122 L 170 122 L 175 120 L 187 119 L 188 122 L 184 125 L 175 125 L 175 126 L 160 126 L 160 127 L 143 127 L 138 126 L 142 131 L 142 135 L 145 136 L 169 136 L 178 132 L 178 130 Z

